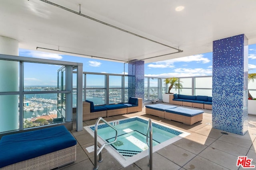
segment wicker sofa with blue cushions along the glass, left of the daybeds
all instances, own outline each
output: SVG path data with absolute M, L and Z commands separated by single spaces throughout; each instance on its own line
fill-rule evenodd
M 93 102 L 86 100 L 83 102 L 83 121 L 138 111 L 142 111 L 142 98 L 130 97 L 127 103 L 103 106 L 94 106 Z

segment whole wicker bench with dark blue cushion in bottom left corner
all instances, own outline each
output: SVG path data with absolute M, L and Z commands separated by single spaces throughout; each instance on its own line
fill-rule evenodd
M 76 139 L 64 126 L 5 135 L 1 170 L 50 170 L 76 161 Z

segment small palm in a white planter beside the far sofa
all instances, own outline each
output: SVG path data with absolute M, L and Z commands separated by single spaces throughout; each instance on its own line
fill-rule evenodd
M 162 96 L 163 96 L 163 102 L 169 103 L 169 95 L 170 95 L 170 94 L 173 94 L 173 93 L 171 93 L 170 91 L 172 90 L 173 87 L 176 88 L 175 91 L 176 91 L 177 89 L 180 89 L 180 90 L 181 90 L 181 88 L 183 87 L 181 83 L 182 83 L 182 81 L 180 81 L 179 78 L 176 78 L 176 77 L 173 77 L 173 78 L 166 78 L 166 79 L 164 80 L 164 84 L 170 84 L 170 86 L 169 86 L 169 89 L 168 89 L 168 93 L 162 94 Z

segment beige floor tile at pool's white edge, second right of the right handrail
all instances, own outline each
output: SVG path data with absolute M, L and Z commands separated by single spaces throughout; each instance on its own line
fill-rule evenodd
M 170 152 L 170 150 L 172 152 Z M 181 167 L 196 156 L 196 154 L 188 152 L 187 150 L 177 147 L 176 145 L 168 145 L 167 147 L 158 150 L 157 153 Z

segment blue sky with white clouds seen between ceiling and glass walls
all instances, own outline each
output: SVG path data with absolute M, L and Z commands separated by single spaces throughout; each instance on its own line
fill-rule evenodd
M 249 73 L 256 73 L 256 44 L 249 45 L 248 49 Z M 123 63 L 113 61 L 74 57 L 27 49 L 19 49 L 19 56 L 83 63 L 84 72 L 110 74 L 124 74 L 124 72 L 127 74 L 128 72 L 127 64 L 125 65 L 124 70 Z M 56 85 L 56 70 L 58 70 L 58 68 L 60 68 L 60 66 L 26 63 L 24 66 L 24 85 Z M 212 76 L 212 52 L 154 63 L 146 63 L 144 66 L 144 74 L 145 76 L 162 78 Z

